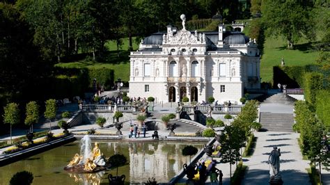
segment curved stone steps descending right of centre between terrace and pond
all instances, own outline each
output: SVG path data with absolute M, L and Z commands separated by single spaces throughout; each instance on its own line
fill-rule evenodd
M 176 124 L 174 132 L 192 132 L 203 131 L 206 127 L 198 122 L 190 122 L 189 120 L 171 120 L 168 124 Z

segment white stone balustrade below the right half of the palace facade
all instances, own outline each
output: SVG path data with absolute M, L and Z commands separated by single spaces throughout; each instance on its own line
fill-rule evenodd
M 221 114 L 221 113 L 231 113 L 238 114 L 242 110 L 242 105 L 231 105 L 231 106 L 211 106 L 212 113 Z M 209 110 L 209 106 L 182 106 L 182 111 L 186 111 L 187 113 L 194 113 L 194 111 L 201 111 L 201 113 L 207 113 Z

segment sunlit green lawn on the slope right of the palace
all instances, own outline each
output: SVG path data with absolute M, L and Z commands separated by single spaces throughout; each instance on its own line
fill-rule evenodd
M 281 38 L 267 38 L 264 45 L 264 53 L 260 62 L 261 81 L 273 80 L 273 66 L 281 65 L 281 58 L 284 58 L 285 65 L 307 65 L 315 63 L 317 52 L 306 40 L 302 40 L 295 49 L 286 49 L 285 40 Z

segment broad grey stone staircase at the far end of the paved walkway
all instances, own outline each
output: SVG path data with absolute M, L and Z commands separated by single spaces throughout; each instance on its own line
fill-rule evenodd
M 267 131 L 293 131 L 293 119 L 292 113 L 260 113 L 262 129 Z

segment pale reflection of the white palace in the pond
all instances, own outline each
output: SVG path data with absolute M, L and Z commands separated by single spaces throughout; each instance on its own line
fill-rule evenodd
M 130 182 L 168 182 L 189 159 L 182 156 L 186 143 L 129 143 Z M 201 145 L 199 146 L 201 148 Z

